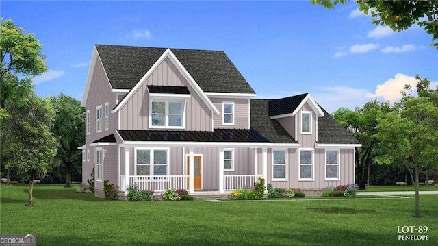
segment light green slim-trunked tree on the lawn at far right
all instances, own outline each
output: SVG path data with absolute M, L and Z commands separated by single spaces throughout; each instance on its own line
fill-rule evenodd
M 408 97 L 396 105 L 397 110 L 379 119 L 376 137 L 387 146 L 386 163 L 403 164 L 415 186 L 415 214 L 420 217 L 421 167 L 428 160 L 428 149 L 438 147 L 438 107 L 428 97 Z

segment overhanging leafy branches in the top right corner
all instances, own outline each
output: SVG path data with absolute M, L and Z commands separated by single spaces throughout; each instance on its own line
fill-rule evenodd
M 334 8 L 337 3 L 346 0 L 311 0 L 313 5 L 324 8 Z M 387 1 L 387 0 L 357 0 L 359 10 L 365 14 L 371 13 L 372 23 L 387 25 L 394 31 L 401 32 L 414 24 L 422 27 L 432 40 L 438 39 L 438 1 Z M 424 18 L 426 16 L 426 18 Z M 438 42 L 432 44 L 438 49 Z

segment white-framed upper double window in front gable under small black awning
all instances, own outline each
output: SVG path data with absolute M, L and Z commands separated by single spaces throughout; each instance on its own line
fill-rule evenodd
M 151 101 L 151 128 L 184 128 L 184 101 Z

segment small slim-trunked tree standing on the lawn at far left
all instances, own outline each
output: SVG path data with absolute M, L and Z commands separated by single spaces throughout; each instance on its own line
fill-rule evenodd
M 6 167 L 14 169 L 18 177 L 29 181 L 27 206 L 33 206 L 33 181 L 47 174 L 57 146 L 51 132 L 55 116 L 51 100 L 40 99 L 34 93 L 29 94 L 28 98 L 26 104 L 5 105 L 10 116 L 7 118 L 8 135 L 3 151 L 12 157 L 6 162 Z

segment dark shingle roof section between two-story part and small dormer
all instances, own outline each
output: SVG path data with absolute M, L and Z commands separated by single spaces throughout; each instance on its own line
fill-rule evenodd
M 275 119 L 269 118 L 269 99 L 250 100 L 251 129 L 254 128 L 271 143 L 298 143 Z

